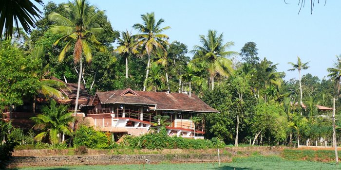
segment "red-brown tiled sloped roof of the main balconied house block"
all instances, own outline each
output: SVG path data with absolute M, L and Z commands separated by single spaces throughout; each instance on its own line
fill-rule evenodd
M 156 105 L 155 110 L 178 110 L 189 112 L 219 112 L 208 106 L 198 96 L 184 93 L 134 91 L 132 89 L 97 92 L 102 104 L 126 103 Z

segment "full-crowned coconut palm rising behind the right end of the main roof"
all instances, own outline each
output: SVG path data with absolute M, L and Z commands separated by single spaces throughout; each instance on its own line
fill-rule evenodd
M 209 80 L 211 82 L 211 90 L 214 88 L 214 78 L 217 74 L 228 76 L 233 71 L 231 60 L 227 56 L 238 55 L 238 52 L 227 51 L 234 43 L 227 42 L 223 44 L 223 33 L 217 34 L 217 31 L 208 30 L 208 35 L 200 35 L 202 46 L 194 46 L 193 62 L 205 61 L 208 65 Z

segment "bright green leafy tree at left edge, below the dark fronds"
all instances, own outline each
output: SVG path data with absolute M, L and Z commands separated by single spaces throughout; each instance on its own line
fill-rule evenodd
M 38 78 L 39 61 L 25 57 L 23 51 L 0 41 L 0 109 L 7 105 L 23 104 L 23 97 L 31 98 L 40 86 Z

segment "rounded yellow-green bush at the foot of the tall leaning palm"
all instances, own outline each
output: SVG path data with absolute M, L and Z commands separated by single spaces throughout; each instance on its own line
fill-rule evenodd
M 86 146 L 91 149 L 109 148 L 110 139 L 104 133 L 96 131 L 92 127 L 80 126 L 76 130 L 74 146 Z

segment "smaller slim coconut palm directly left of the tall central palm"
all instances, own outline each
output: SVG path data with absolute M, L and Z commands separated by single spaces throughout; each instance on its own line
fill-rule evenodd
M 132 54 L 138 53 L 136 46 L 136 39 L 132 36 L 132 33 L 122 32 L 122 39 L 118 38 L 117 44 L 119 45 L 114 51 L 119 54 L 123 54 L 126 58 L 126 78 L 128 78 L 128 57 Z

